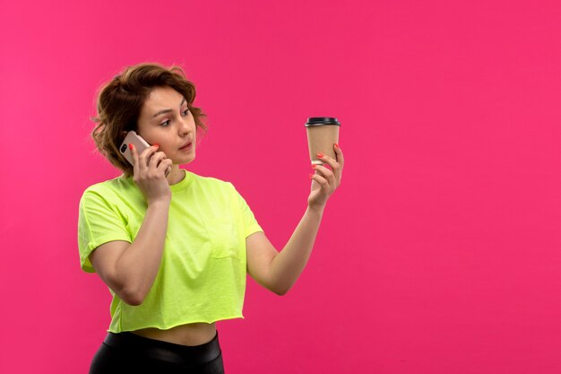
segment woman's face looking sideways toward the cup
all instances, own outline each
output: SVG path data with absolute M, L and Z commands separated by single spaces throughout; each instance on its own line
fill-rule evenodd
M 144 101 L 137 133 L 149 144 L 160 144 L 174 164 L 194 160 L 196 126 L 187 101 L 171 87 L 154 88 Z

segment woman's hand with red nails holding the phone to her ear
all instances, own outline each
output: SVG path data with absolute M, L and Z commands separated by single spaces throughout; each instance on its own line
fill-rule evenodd
M 171 200 L 171 189 L 166 170 L 173 161 L 167 158 L 166 153 L 158 152 L 159 145 L 154 144 L 146 148 L 140 155 L 133 144 L 129 144 L 133 155 L 134 183 L 142 191 L 146 202 L 150 205 L 159 201 Z

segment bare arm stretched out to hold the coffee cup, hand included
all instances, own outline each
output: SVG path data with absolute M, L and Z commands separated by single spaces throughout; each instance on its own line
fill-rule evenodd
M 257 283 L 279 295 L 289 291 L 306 267 L 322 222 L 325 204 L 341 185 L 345 161 L 337 144 L 333 145 L 333 149 L 337 160 L 318 155 L 324 163 L 331 166 L 331 170 L 321 165 L 312 166 L 315 174 L 311 175 L 312 188 L 307 199 L 306 213 L 280 253 L 263 232 L 256 232 L 246 238 L 247 272 Z

